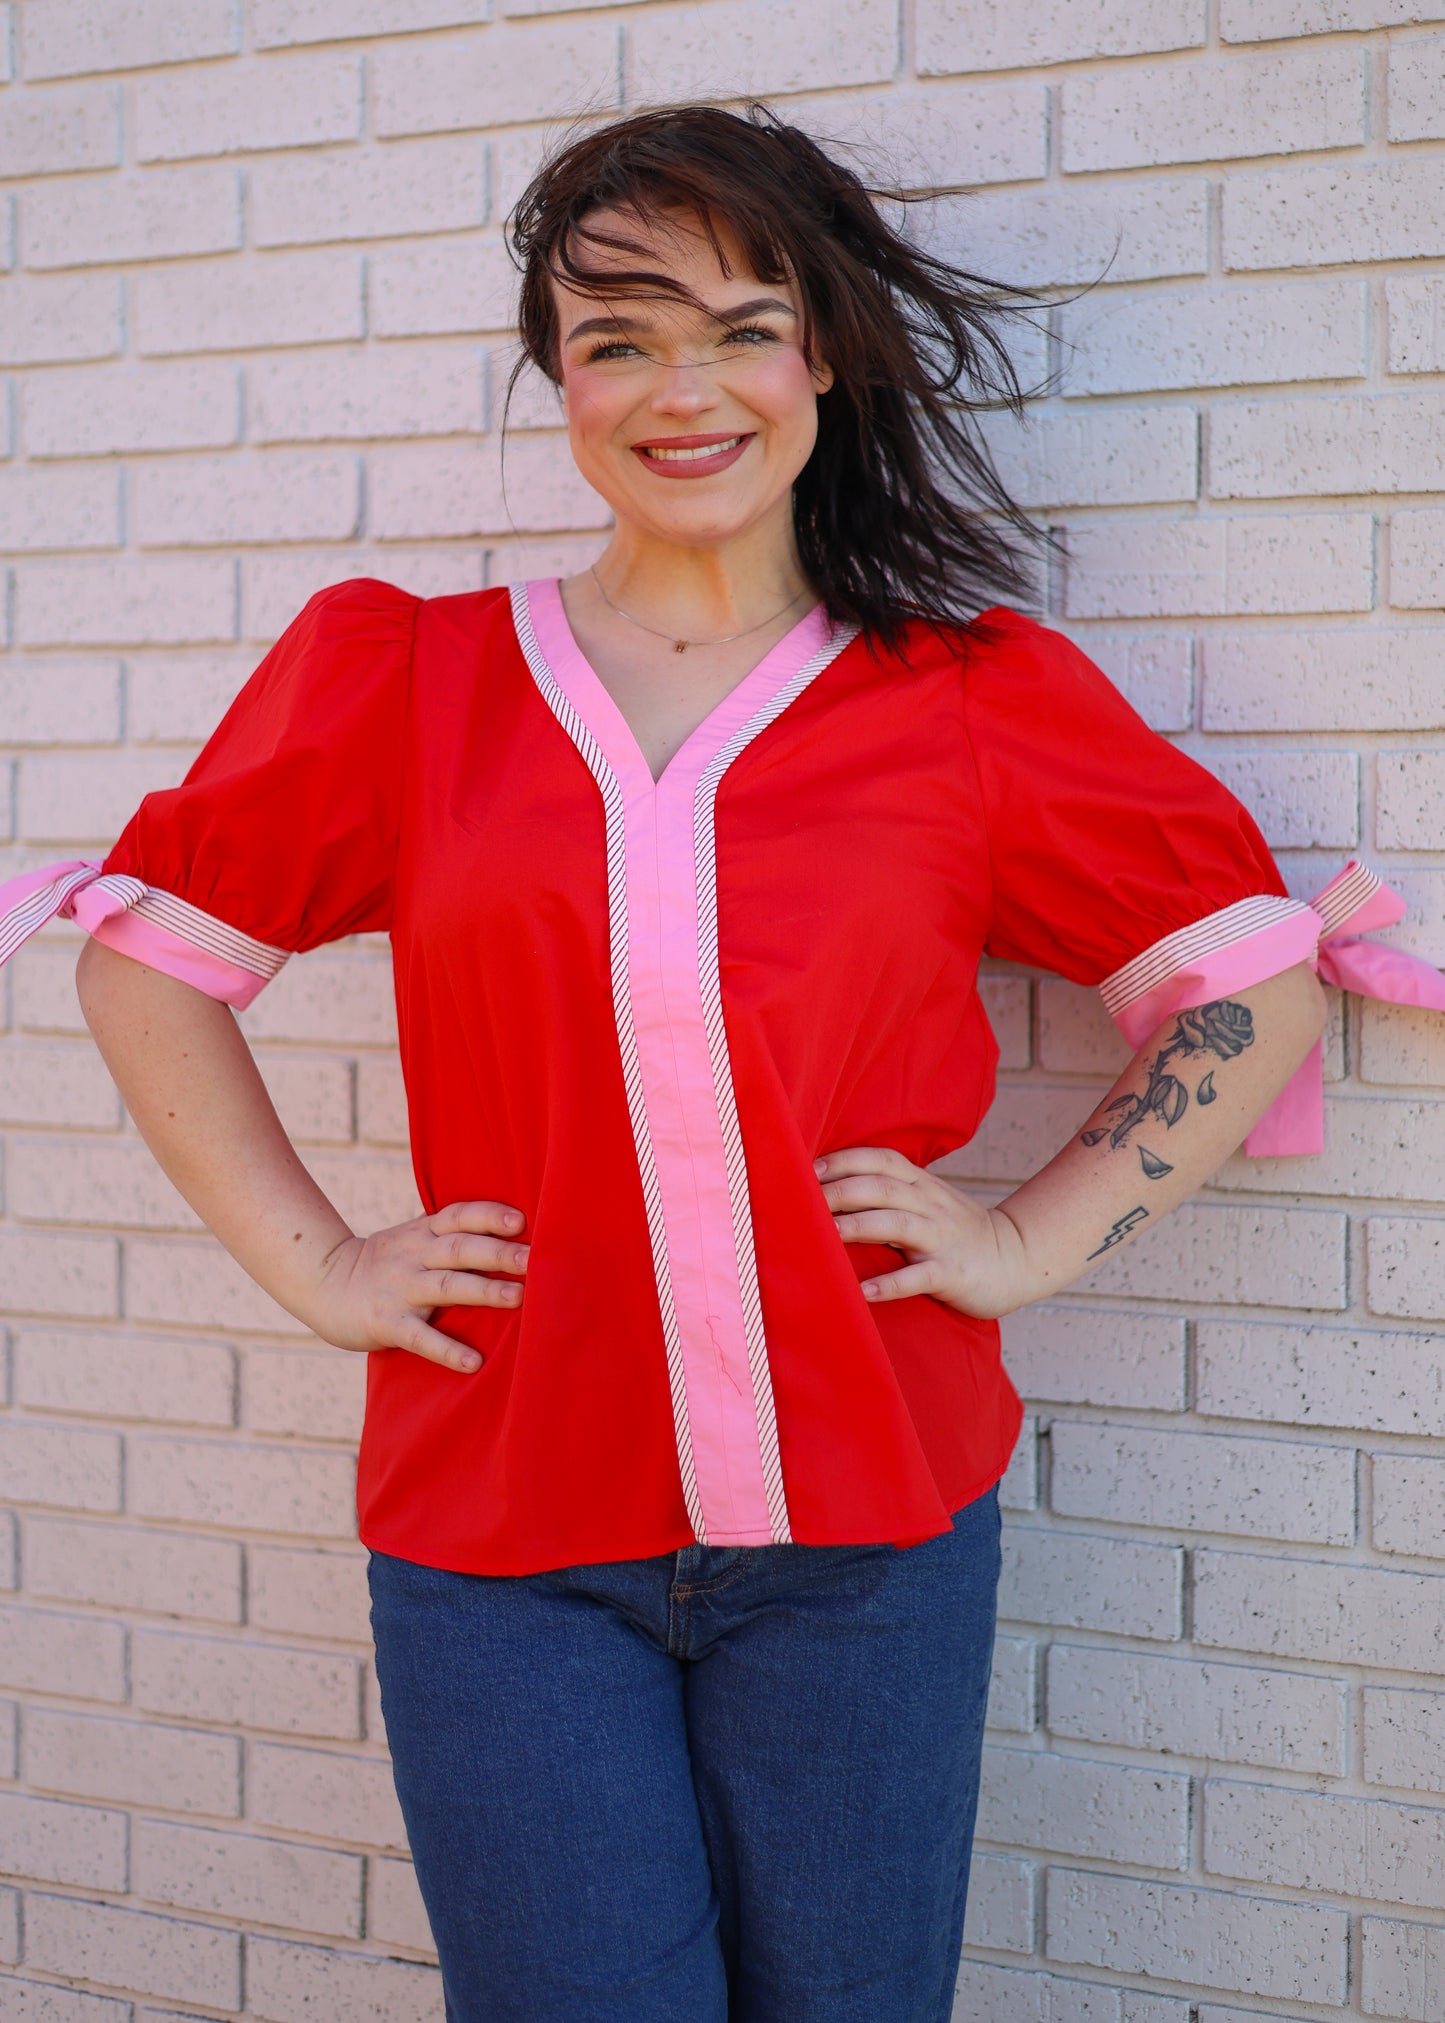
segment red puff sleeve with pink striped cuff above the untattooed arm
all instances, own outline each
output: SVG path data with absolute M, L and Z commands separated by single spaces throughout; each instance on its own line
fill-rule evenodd
M 287 955 L 385 929 L 415 619 L 415 597 L 370 579 L 314 597 L 67 910 L 237 1005 Z

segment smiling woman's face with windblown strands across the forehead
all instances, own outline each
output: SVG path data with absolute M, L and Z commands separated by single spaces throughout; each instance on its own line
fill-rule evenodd
M 573 457 L 619 524 L 714 546 L 769 518 L 791 528 L 791 486 L 818 439 L 826 366 L 810 370 L 791 281 L 759 281 L 727 227 L 731 273 L 678 214 L 589 225 L 646 257 L 589 247 L 589 265 L 654 267 L 706 303 L 581 295 L 557 285 L 563 405 Z

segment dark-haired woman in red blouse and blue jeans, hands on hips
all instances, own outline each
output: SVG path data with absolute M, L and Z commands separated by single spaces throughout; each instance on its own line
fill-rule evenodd
M 980 615 L 1026 522 L 959 401 L 1018 388 L 988 291 L 850 172 L 763 113 L 650 113 L 552 160 L 516 243 L 607 548 L 312 599 L 67 874 L 83 1005 L 231 1254 L 370 1357 L 447 2015 L 943 2023 L 998 1315 L 1239 1143 L 1320 1034 L 1322 922 L 1073 645 Z M 427 1214 L 356 1236 L 229 1005 L 382 929 Z M 992 1096 L 984 951 L 1143 1038 L 998 1208 L 929 1173 Z

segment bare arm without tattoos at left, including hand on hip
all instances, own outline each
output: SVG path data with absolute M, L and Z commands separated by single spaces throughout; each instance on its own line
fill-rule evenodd
M 453 1202 L 356 1236 L 302 1165 L 231 1009 L 190 983 L 87 941 L 85 1022 L 156 1161 L 271 1299 L 342 1349 L 482 1361 L 429 1325 L 437 1307 L 516 1307 L 524 1218 Z

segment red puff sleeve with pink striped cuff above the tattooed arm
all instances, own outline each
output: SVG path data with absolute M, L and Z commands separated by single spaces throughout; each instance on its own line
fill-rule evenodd
M 988 953 L 1099 985 L 1131 1044 L 1315 951 L 1249 811 L 1060 633 L 990 613 L 963 696 L 992 858 Z

